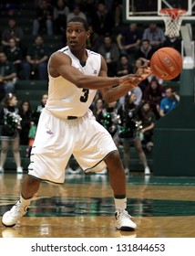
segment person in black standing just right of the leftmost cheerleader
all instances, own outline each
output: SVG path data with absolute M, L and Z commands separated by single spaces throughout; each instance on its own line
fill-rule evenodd
M 19 115 L 22 118 L 20 133 L 20 144 L 28 145 L 28 133 L 32 124 L 32 109 L 29 101 L 22 101 L 19 107 Z

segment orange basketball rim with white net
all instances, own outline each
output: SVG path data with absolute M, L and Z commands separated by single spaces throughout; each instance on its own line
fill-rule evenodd
M 180 25 L 186 12 L 185 9 L 180 8 L 164 8 L 160 10 L 160 15 L 165 23 L 165 36 L 170 38 L 180 36 Z

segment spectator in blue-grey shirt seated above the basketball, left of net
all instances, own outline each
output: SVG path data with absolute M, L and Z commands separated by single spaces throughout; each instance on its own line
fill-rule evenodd
M 163 30 L 156 23 L 150 23 L 149 27 L 144 29 L 142 40 L 145 39 L 149 40 L 154 49 L 162 47 L 166 40 Z

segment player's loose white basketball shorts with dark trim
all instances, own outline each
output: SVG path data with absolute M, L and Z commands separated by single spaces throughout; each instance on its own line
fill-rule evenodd
M 28 174 L 55 183 L 64 183 L 71 155 L 85 172 L 101 171 L 104 159 L 117 146 L 111 135 L 89 110 L 83 117 L 61 120 L 45 109 L 40 115 Z

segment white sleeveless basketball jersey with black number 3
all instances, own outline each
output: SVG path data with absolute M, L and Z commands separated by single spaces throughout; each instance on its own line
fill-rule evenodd
M 72 66 L 86 75 L 98 76 L 101 67 L 101 57 L 96 52 L 87 50 L 87 61 L 84 67 L 71 53 L 68 47 L 59 51 L 72 59 Z M 53 78 L 49 74 L 48 100 L 46 110 L 58 118 L 68 115 L 83 116 L 91 105 L 97 90 L 77 88 L 72 82 L 63 77 Z

